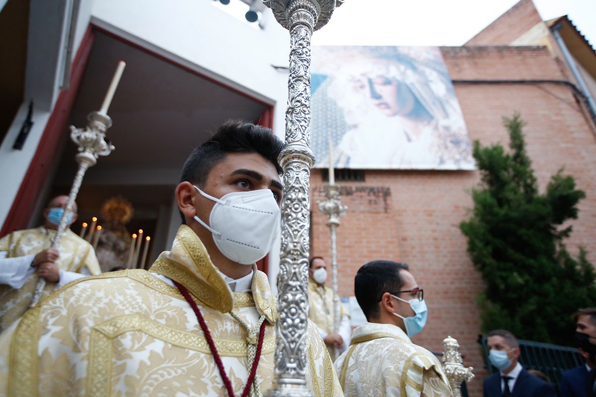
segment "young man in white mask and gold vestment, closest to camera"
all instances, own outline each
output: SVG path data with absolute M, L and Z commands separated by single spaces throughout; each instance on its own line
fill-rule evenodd
M 277 312 L 254 262 L 279 229 L 282 147 L 263 127 L 222 125 L 184 165 L 176 187 L 184 224 L 170 251 L 149 271 L 75 282 L 27 312 L 0 337 L 0 387 L 23 396 L 229 397 L 271 388 Z M 312 323 L 307 338 L 307 386 L 341 396 Z

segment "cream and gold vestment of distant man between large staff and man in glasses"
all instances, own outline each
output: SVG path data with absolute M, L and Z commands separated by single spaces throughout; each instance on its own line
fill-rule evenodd
M 333 333 L 333 290 L 324 285 L 318 285 L 310 277 L 308 279 L 308 317 L 318 327 L 319 335 L 323 339 L 328 334 Z M 350 335 L 352 334 L 349 318 L 350 315 L 346 307 L 340 302 L 340 325 L 338 333 L 344 341 L 342 351 L 350 343 Z M 327 348 L 329 349 L 329 354 L 333 355 L 335 348 L 333 346 L 327 346 Z

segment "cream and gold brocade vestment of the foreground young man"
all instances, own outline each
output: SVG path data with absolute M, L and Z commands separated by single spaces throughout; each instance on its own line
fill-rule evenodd
M 197 317 L 197 302 L 240 395 L 249 376 L 247 330 L 265 317 L 260 392 L 274 379 L 275 299 L 253 266 L 252 292 L 232 292 L 190 227 L 149 271 L 87 277 L 57 290 L 0 336 L 0 395 L 227 396 Z M 169 282 L 168 282 L 169 281 Z M 8 347 L 11 344 L 10 348 Z M 306 382 L 315 396 L 343 396 L 316 327 L 309 323 Z

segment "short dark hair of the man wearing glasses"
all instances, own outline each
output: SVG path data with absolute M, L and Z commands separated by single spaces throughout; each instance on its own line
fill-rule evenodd
M 409 270 L 408 265 L 392 261 L 372 261 L 358 269 L 354 278 L 354 293 L 368 321 L 378 316 L 378 302 L 383 293 L 395 293 L 402 289 L 405 281 L 401 270 Z

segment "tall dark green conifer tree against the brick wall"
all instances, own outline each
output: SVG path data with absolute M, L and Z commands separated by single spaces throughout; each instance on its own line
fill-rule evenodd
M 481 182 L 471 192 L 473 213 L 460 224 L 486 283 L 478 299 L 482 330 L 508 329 L 520 339 L 568 345 L 570 315 L 596 306 L 594 267 L 583 249 L 574 258 L 563 243 L 572 232 L 563 224 L 578 217 L 585 193 L 563 170 L 540 193 L 520 115 L 504 118 L 504 125 L 509 152 L 500 144 L 474 142 Z

